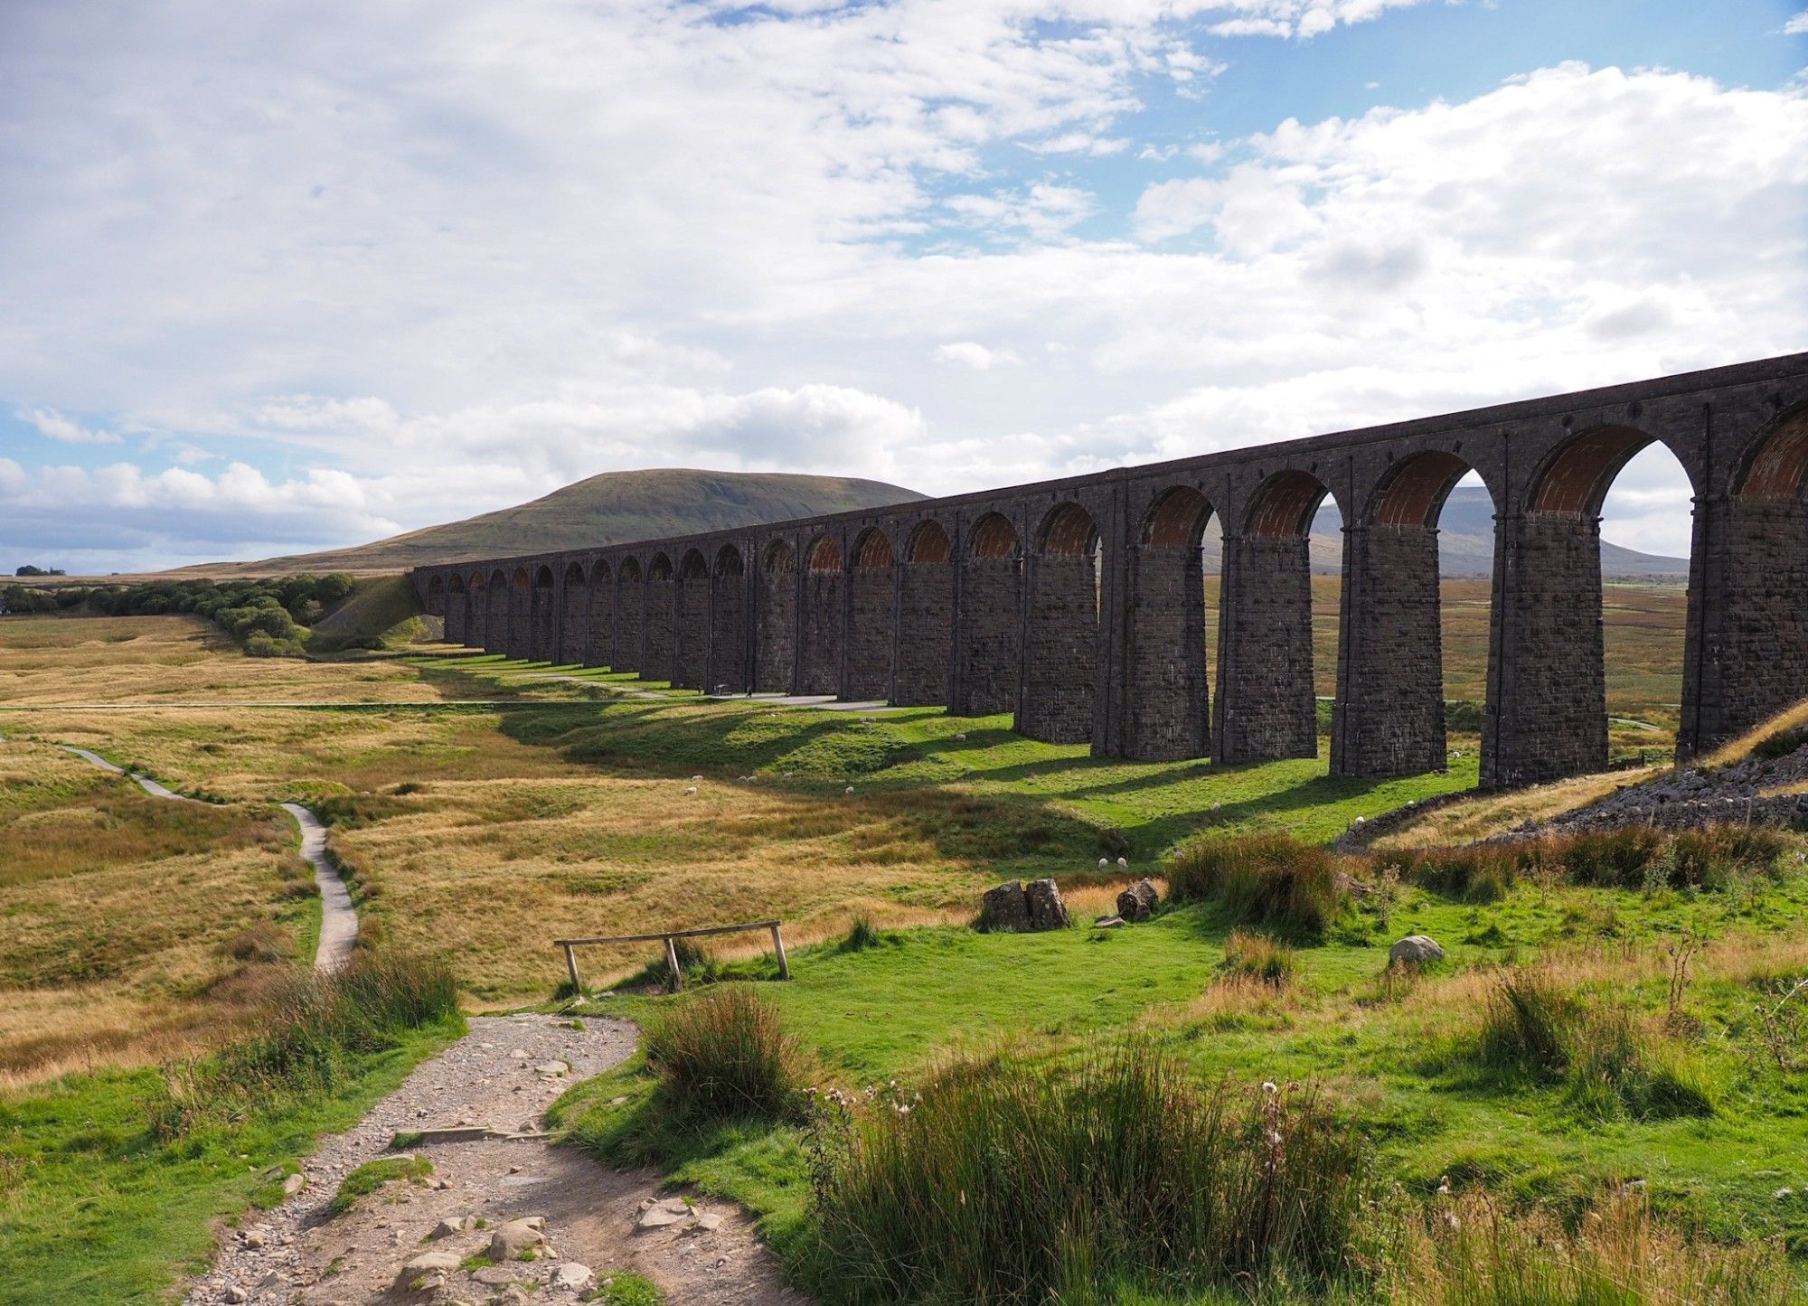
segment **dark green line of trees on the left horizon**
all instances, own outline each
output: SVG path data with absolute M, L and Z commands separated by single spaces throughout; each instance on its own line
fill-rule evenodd
M 231 635 L 251 657 L 300 657 L 313 626 L 351 595 L 344 573 L 278 581 L 143 581 L 0 590 L 0 613 L 54 613 L 85 608 L 105 617 L 192 613 Z

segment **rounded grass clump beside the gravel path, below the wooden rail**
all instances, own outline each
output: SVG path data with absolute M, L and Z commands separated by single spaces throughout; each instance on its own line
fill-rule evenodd
M 801 1120 L 806 1085 L 797 1040 L 747 984 L 721 984 L 665 1011 L 647 1031 L 660 1116 L 678 1127 Z

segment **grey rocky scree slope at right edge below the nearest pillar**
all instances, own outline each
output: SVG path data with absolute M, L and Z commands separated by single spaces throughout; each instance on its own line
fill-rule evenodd
M 1752 754 L 1728 767 L 1678 767 L 1627 785 L 1542 830 L 1598 830 L 1620 825 L 1692 828 L 1759 823 L 1808 828 L 1808 794 L 1768 796 L 1808 781 L 1808 743 L 1781 756 Z

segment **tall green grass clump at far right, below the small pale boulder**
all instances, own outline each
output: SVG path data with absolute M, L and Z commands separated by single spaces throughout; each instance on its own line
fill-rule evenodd
M 1714 1093 L 1676 1042 L 1618 1004 L 1589 1004 L 1540 970 L 1510 971 L 1488 1000 L 1481 1064 L 1562 1084 L 1586 1116 L 1709 1116 Z

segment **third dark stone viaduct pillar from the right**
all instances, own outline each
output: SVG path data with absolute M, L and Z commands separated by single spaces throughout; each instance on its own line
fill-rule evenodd
M 1445 769 L 1436 526 L 1351 526 L 1331 774 Z

